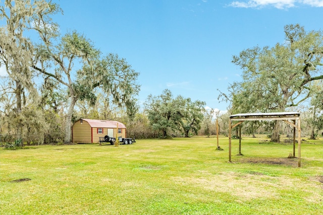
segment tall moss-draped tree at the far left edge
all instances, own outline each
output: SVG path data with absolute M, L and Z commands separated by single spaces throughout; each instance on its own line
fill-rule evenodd
M 55 13 L 56 5 L 50 5 L 45 1 L 10 1 L 5 0 L 0 5 L 0 19 L 6 22 L 0 28 L 0 60 L 6 66 L 9 78 L 15 84 L 14 94 L 16 99 L 15 119 L 16 137 L 22 138 L 22 110 L 26 105 L 25 95 L 31 98 L 37 97 L 37 91 L 33 87 L 31 60 L 33 56 L 33 44 L 24 36 L 33 24 Z M 22 141 L 21 141 L 22 142 Z

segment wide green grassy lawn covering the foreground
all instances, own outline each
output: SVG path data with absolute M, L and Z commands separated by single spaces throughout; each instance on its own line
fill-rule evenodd
M 0 214 L 322 214 L 323 140 L 147 139 L 0 149 Z M 297 146 L 296 146 L 297 156 Z

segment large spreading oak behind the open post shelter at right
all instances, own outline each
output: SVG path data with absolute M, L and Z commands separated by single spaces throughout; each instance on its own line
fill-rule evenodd
M 243 70 L 243 81 L 229 87 L 232 113 L 280 112 L 310 98 L 311 82 L 323 79 L 323 34 L 306 32 L 300 25 L 284 27 L 285 43 L 270 48 L 255 46 L 233 56 Z M 280 141 L 276 121 L 272 141 Z

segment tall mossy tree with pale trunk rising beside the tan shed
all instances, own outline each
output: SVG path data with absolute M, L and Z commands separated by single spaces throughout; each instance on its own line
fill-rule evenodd
M 43 24 L 38 26 L 39 32 Z M 69 108 L 66 114 L 65 143 L 71 141 L 72 115 L 78 100 L 87 100 L 94 105 L 96 102 L 95 88 L 101 88 L 113 97 L 113 102 L 119 106 L 125 105 L 129 113 L 135 112 L 134 95 L 138 94 L 139 85 L 136 73 L 127 61 L 116 54 L 109 54 L 100 59 L 100 51 L 94 48 L 90 40 L 77 32 L 66 34 L 62 42 L 56 46 L 50 42 L 51 34 L 41 35 L 43 44 L 38 46 L 38 58 L 41 62 L 53 61 L 55 72 L 51 73 L 44 64 L 34 68 L 42 74 L 57 80 L 67 87 L 69 92 Z M 81 62 L 81 68 L 73 68 Z M 48 67 L 47 67 L 48 68 Z M 74 76 L 76 78 L 74 78 Z M 130 115 L 131 115 L 130 114 Z

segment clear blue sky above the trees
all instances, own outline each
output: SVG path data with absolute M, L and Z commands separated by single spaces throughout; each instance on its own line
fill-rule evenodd
M 283 28 L 320 30 L 322 0 L 53 0 L 61 33 L 76 30 L 140 73 L 142 103 L 164 89 L 226 110 L 217 89 L 240 81 L 232 55 L 284 42 Z

